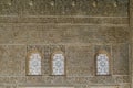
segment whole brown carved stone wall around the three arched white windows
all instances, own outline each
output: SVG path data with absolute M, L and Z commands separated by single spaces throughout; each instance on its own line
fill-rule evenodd
M 63 3 L 60 2 L 61 0 L 55 0 L 59 1 L 55 2 L 59 6 L 55 8 L 54 4 L 53 11 L 50 7 L 44 9 L 41 8 L 44 6 L 34 6 L 42 4 L 43 0 L 34 1 L 33 4 L 27 0 L 13 0 L 12 3 L 10 0 L 0 1 L 2 7 L 0 11 L 0 88 L 23 86 L 90 88 L 93 85 L 130 88 L 131 52 L 126 0 L 121 0 L 122 2 L 117 0 L 119 4 L 115 9 L 110 8 L 113 4 L 110 0 L 98 0 L 96 7 L 93 0 L 90 0 L 92 7 L 85 3 L 86 0 L 78 1 L 79 6 L 73 10 L 75 12 L 72 11 L 72 13 L 69 10 L 65 15 L 60 7 L 70 4 L 72 0 L 66 2 L 63 0 Z M 50 0 L 44 1 L 47 1 L 45 6 L 50 2 Z M 102 2 L 110 4 L 108 7 L 111 10 L 103 8 Z M 83 3 L 85 3 L 84 7 L 92 8 L 89 10 L 98 12 L 88 13 L 83 9 Z M 44 12 L 41 13 L 42 9 Z M 42 76 L 25 74 L 27 53 L 33 48 L 38 48 L 43 55 Z M 50 56 L 57 48 L 64 52 L 66 76 L 50 74 Z M 94 56 L 99 50 L 105 50 L 111 55 L 111 76 L 95 76 Z

